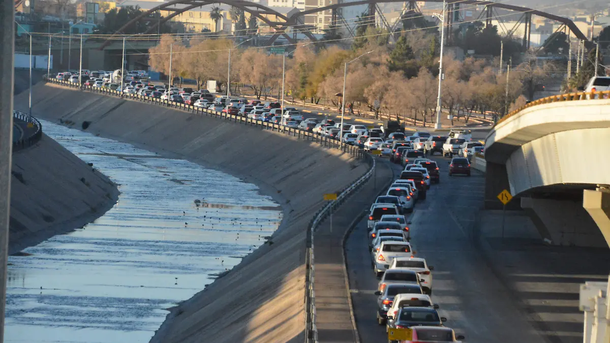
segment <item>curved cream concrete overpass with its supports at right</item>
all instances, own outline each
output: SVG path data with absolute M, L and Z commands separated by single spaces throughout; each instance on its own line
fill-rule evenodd
M 610 246 L 609 98 L 550 96 L 498 121 L 485 142 L 485 207 L 509 189 L 547 242 Z

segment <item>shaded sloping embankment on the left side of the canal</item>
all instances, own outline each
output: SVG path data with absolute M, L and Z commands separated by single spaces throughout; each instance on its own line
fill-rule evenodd
M 117 186 L 95 166 L 43 135 L 13 153 L 9 253 L 81 228 L 106 213 L 117 198 Z

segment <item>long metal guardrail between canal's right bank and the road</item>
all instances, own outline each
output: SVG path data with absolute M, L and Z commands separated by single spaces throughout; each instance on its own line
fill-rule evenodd
M 94 93 L 101 93 L 105 95 L 117 96 L 120 98 L 127 98 L 140 101 L 142 103 L 148 104 L 157 104 L 160 106 L 175 108 L 185 110 L 187 112 L 191 112 L 194 114 L 207 115 L 210 117 L 221 118 L 224 120 L 233 121 L 234 123 L 239 123 L 243 125 L 250 126 L 260 126 L 260 129 L 271 129 L 271 131 L 281 132 L 287 135 L 292 135 L 293 137 L 297 137 L 298 139 L 309 140 L 312 142 L 320 143 L 320 145 L 327 146 L 329 148 L 340 149 L 345 153 L 350 153 L 352 156 L 362 159 L 367 159 L 368 164 L 370 164 L 370 168 L 366 171 L 360 178 L 354 181 L 350 186 L 345 187 L 345 189 L 339 192 L 337 196 L 337 200 L 330 201 L 323 208 L 321 208 L 316 214 L 314 218 L 309 222 L 307 226 L 307 234 L 306 234 L 306 275 L 305 275 L 305 322 L 306 322 L 306 335 L 305 342 L 306 343 L 317 343 L 318 342 L 318 330 L 315 325 L 315 317 L 316 317 L 316 309 L 315 309 L 315 291 L 314 291 L 314 280 L 315 280 L 315 267 L 314 267 L 314 233 L 318 228 L 318 225 L 325 220 L 326 217 L 331 213 L 331 210 L 334 210 L 340 206 L 351 194 L 354 193 L 355 190 L 359 189 L 364 182 L 366 182 L 371 175 L 373 175 L 373 171 L 376 168 L 375 159 L 368 153 L 365 153 L 363 150 L 357 148 L 356 146 L 346 145 L 341 143 L 338 140 L 329 139 L 328 137 L 323 137 L 318 134 L 314 134 L 314 132 L 307 132 L 300 129 L 286 128 L 283 125 L 269 123 L 267 121 L 262 120 L 254 120 L 250 118 L 241 117 L 239 115 L 229 115 L 223 112 L 218 112 L 215 110 L 204 109 L 203 107 L 196 107 L 192 105 L 187 105 L 183 103 L 175 103 L 174 101 L 163 100 L 159 98 L 154 98 L 151 96 L 144 95 L 136 95 L 131 93 L 123 93 L 118 90 L 112 90 L 109 88 L 101 88 L 101 87 L 91 87 L 88 85 L 82 85 L 79 87 L 79 84 L 74 82 L 68 82 L 53 78 L 45 78 L 47 82 L 51 82 L 54 84 L 65 85 L 71 88 L 81 88 L 82 90 L 89 90 Z

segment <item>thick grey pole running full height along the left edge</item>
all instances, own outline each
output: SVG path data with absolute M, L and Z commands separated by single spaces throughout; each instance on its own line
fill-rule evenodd
M 10 171 L 13 142 L 13 57 L 15 4 L 0 3 L 0 342 L 4 342 L 6 273 L 9 250 Z

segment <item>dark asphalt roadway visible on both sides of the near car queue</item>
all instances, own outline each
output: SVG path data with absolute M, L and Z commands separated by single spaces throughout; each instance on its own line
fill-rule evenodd
M 439 164 L 440 184 L 433 185 L 428 199 L 415 206 L 411 216 L 415 256 L 435 267 L 432 300 L 446 325 L 464 334 L 468 342 L 544 342 L 517 309 L 508 289 L 476 251 L 470 239 L 475 213 L 481 203 L 483 175 L 448 176 L 448 159 L 432 157 Z M 376 322 L 375 291 L 367 239 L 359 226 L 346 244 L 354 316 L 363 343 L 385 338 Z

